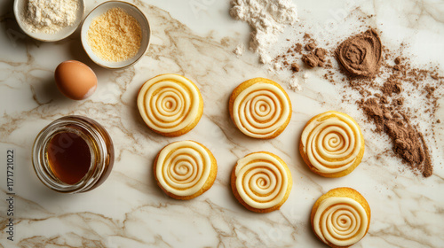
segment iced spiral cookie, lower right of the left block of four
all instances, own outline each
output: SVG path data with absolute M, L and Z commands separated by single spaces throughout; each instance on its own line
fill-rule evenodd
M 289 197 L 291 183 L 287 165 L 269 152 L 255 152 L 239 159 L 232 176 L 236 198 L 239 196 L 242 204 L 258 210 L 279 209 Z

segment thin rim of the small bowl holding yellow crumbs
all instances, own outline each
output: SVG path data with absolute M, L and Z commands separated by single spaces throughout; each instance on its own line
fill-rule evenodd
M 148 34 L 147 34 L 147 35 L 148 35 L 147 47 L 146 47 L 145 49 L 140 48 L 140 49 L 143 50 L 143 52 L 140 53 L 139 58 L 137 58 L 136 60 L 134 60 L 133 62 L 131 62 L 130 64 L 125 65 L 125 66 L 106 66 L 106 65 L 104 65 L 103 63 L 101 63 L 101 59 L 100 59 L 100 60 L 97 60 L 97 59 L 92 58 L 90 52 L 88 52 L 88 50 L 86 50 L 86 48 L 85 48 L 85 46 L 90 47 L 90 45 L 88 44 L 86 38 L 83 37 L 83 28 L 86 28 L 85 25 L 84 25 L 85 20 L 88 19 L 88 18 L 90 17 L 91 13 L 95 12 L 95 11 L 96 11 L 101 5 L 103 5 L 103 4 L 113 4 L 113 3 L 118 3 L 118 4 L 128 4 L 128 5 L 131 5 L 131 7 L 135 8 L 135 9 L 136 9 L 136 10 L 142 15 L 142 17 L 147 21 L 147 31 L 148 31 Z M 89 27 L 88 27 L 88 28 L 89 28 Z M 95 7 L 91 10 L 91 12 L 89 12 L 89 13 L 85 16 L 85 18 L 83 19 L 83 22 L 82 22 L 82 27 L 81 27 L 81 32 L 80 32 L 80 34 L 81 34 L 80 36 L 81 36 L 81 42 L 82 42 L 83 50 L 84 50 L 85 53 L 88 55 L 88 57 L 91 58 L 91 60 L 92 60 L 94 63 L 96 63 L 97 65 L 102 66 L 102 67 L 104 67 L 104 68 L 107 68 L 107 69 L 111 69 L 111 70 L 119 70 L 119 69 L 128 68 L 128 67 L 130 67 L 130 66 L 134 66 L 136 63 L 139 62 L 139 60 L 140 60 L 141 58 L 143 58 L 143 57 L 145 56 L 145 54 L 147 53 L 147 50 L 148 50 L 148 48 L 149 48 L 149 45 L 150 45 L 150 40 L 151 40 L 151 27 L 150 27 L 150 25 L 149 25 L 149 20 L 147 19 L 147 15 L 145 15 L 145 12 L 142 12 L 142 10 L 140 10 L 138 6 L 136 6 L 135 4 L 131 4 L 131 3 L 125 2 L 125 1 L 111 0 L 111 1 L 103 2 L 103 3 L 101 3 L 101 4 L 97 5 L 97 6 L 95 6 Z

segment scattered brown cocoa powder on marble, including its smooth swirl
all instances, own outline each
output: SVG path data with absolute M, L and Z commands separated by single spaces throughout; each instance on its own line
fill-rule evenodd
M 389 136 L 392 147 L 384 152 L 385 155 L 400 158 L 414 173 L 419 172 L 424 177 L 432 175 L 431 151 L 424 137 L 430 142 L 430 138 L 434 139 L 434 131 L 432 127 L 422 126 L 430 123 L 418 121 L 440 123 L 435 115 L 437 99 L 442 95 L 442 90 L 436 89 L 444 83 L 440 69 L 412 66 L 409 55 L 401 56 L 404 43 L 394 54 L 382 45 L 377 30 L 372 27 L 346 38 L 335 48 L 329 47 L 329 51 L 317 47 L 313 35 L 299 34 L 303 37 L 297 43 L 290 43 L 286 52 L 274 58 L 274 63 L 293 74 L 323 67 L 323 78 L 340 85 L 342 101 L 357 103 L 367 116 L 366 121 L 376 124 L 376 133 Z M 329 46 L 329 43 L 324 44 Z M 337 59 L 338 67 L 331 63 L 330 54 Z M 298 63 L 299 59 L 303 65 Z M 358 99 L 351 94 L 354 91 L 358 92 Z

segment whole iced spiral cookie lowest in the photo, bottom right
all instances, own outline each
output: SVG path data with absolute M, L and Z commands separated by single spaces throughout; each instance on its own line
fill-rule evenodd
M 367 234 L 370 206 L 351 188 L 329 190 L 313 205 L 310 216 L 316 236 L 334 248 L 349 247 Z

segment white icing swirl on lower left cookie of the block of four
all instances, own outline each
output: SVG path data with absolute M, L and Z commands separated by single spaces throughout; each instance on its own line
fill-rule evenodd
M 208 151 L 199 143 L 181 141 L 170 143 L 160 151 L 155 174 L 164 190 L 186 197 L 202 189 L 210 170 Z

